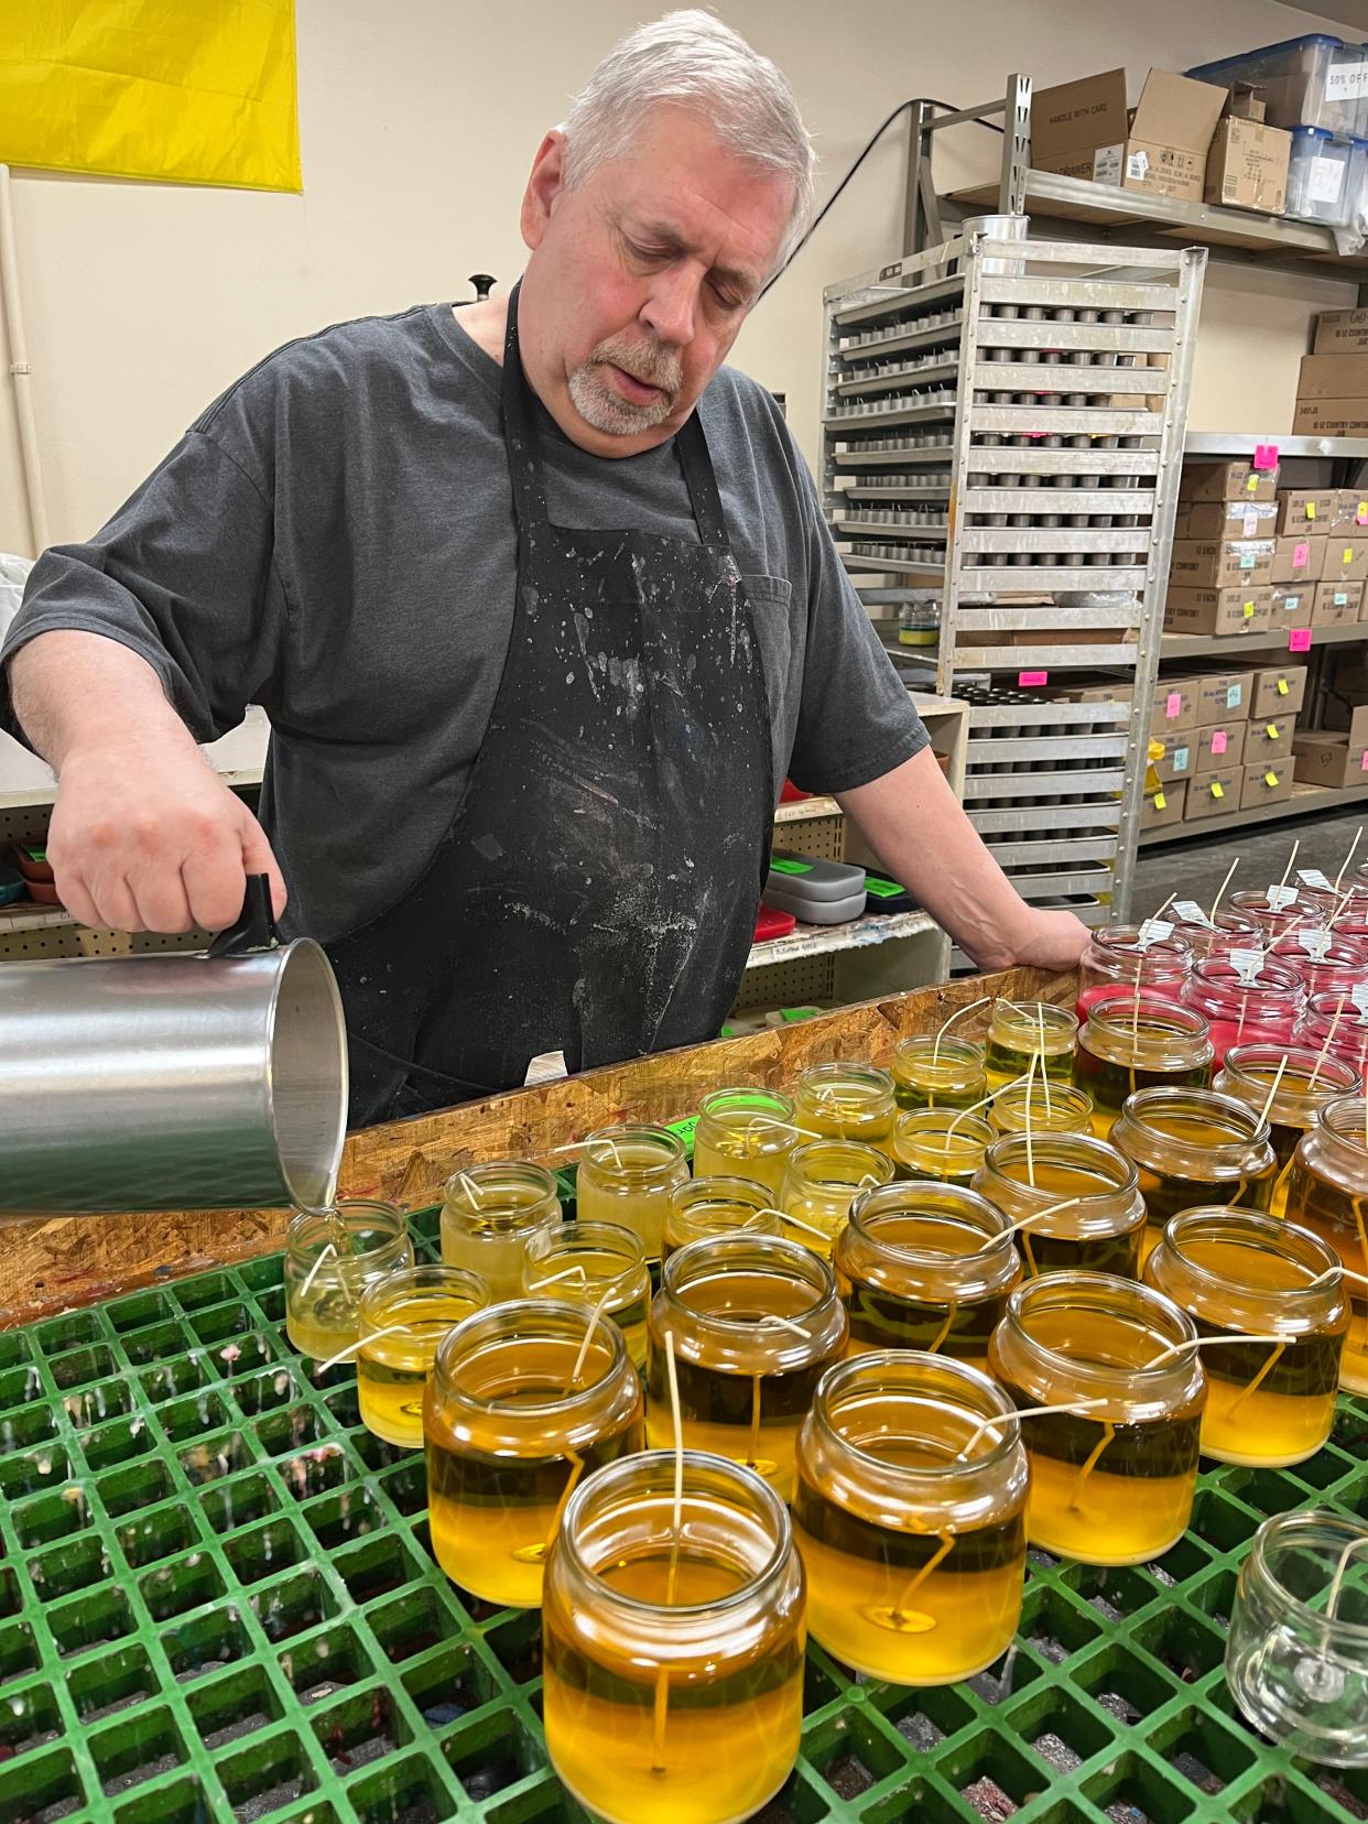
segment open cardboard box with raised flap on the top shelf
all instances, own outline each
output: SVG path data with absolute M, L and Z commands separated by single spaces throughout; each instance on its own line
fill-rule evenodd
M 1224 104 L 1226 89 L 1166 69 L 1149 71 L 1129 124 L 1124 69 L 1036 89 L 1031 162 L 1040 171 L 1200 202 Z

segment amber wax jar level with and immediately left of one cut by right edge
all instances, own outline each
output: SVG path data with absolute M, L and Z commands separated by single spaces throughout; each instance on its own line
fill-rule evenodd
M 1268 1122 L 1215 1089 L 1138 1089 L 1125 1100 L 1111 1144 L 1140 1176 L 1142 1266 L 1180 1209 L 1237 1202 L 1268 1209 L 1271 1202 L 1277 1155 Z

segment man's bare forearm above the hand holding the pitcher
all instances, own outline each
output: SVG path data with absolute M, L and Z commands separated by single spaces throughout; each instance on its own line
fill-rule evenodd
M 55 772 L 73 751 L 164 739 L 195 748 L 146 658 L 98 633 L 40 633 L 9 660 L 15 715 Z

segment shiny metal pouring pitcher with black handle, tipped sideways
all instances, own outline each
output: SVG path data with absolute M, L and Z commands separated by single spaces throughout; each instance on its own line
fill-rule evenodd
M 193 956 L 0 963 L 0 1215 L 326 1207 L 347 1029 L 264 874 Z

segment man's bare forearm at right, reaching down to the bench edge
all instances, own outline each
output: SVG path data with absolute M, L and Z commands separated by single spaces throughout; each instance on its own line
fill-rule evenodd
M 1031 910 L 979 841 L 930 748 L 837 793 L 883 865 L 981 969 L 1005 969 L 1031 938 Z

